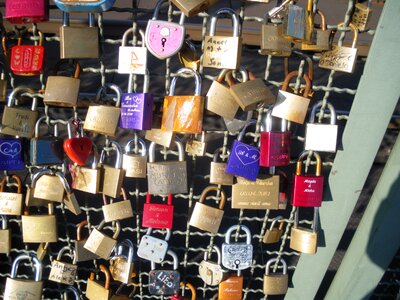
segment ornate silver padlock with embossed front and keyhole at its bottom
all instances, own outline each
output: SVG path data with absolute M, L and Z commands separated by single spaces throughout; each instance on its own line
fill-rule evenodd
M 231 243 L 234 230 L 246 233 L 246 243 Z M 253 245 L 251 232 L 247 226 L 233 225 L 225 233 L 225 243 L 222 244 L 222 265 L 229 270 L 244 270 L 251 267 L 253 262 Z

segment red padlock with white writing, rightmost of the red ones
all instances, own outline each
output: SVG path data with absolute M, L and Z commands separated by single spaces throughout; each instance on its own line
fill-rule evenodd
M 303 151 L 296 164 L 296 174 L 293 175 L 292 205 L 301 207 L 321 206 L 324 190 L 324 176 L 321 175 L 322 161 L 317 152 L 311 154 L 316 159 L 315 175 L 301 174 L 303 159 L 310 151 Z

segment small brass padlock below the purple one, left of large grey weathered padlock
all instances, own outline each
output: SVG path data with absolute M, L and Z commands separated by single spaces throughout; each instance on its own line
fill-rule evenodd
M 129 140 L 125 146 L 125 153 L 122 155 L 122 168 L 125 170 L 125 177 L 128 178 L 146 178 L 147 174 L 147 151 L 146 144 L 142 139 L 137 139 L 141 149 L 140 155 L 132 153 L 132 146 L 135 139 Z

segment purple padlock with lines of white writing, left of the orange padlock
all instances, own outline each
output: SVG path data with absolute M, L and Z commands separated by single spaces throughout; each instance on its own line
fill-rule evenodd
M 153 95 L 149 91 L 149 71 L 146 69 L 143 93 L 132 93 L 132 74 L 129 75 L 128 92 L 122 94 L 119 127 L 150 130 L 153 122 Z

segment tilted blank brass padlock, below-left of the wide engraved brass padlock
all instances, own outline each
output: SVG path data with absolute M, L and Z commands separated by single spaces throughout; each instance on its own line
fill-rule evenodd
M 206 196 L 210 191 L 221 192 L 221 200 L 218 208 L 204 204 Z M 201 193 L 199 201 L 194 206 L 189 225 L 216 234 L 224 215 L 225 201 L 226 195 L 223 190 L 219 190 L 216 186 L 206 187 Z

